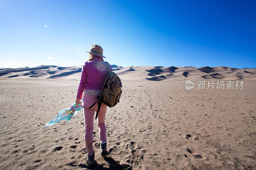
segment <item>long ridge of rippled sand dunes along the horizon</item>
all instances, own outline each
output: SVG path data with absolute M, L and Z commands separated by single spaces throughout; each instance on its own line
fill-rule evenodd
M 162 67 L 162 66 L 132 66 L 121 67 L 111 65 L 113 71 L 123 80 L 193 80 L 193 79 L 223 79 L 223 80 L 256 80 L 256 69 L 237 69 L 230 67 Z M 80 79 L 82 66 L 58 67 L 41 65 L 33 68 L 1 68 L 1 78 L 57 78 Z

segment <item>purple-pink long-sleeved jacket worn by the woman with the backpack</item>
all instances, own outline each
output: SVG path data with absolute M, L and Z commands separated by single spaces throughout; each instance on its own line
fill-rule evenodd
M 112 68 L 109 65 L 111 71 Z M 83 98 L 83 92 L 85 89 L 90 90 L 102 90 L 103 84 L 106 80 L 106 74 L 108 69 L 102 57 L 92 57 L 91 61 L 84 63 L 81 72 L 80 84 L 77 90 L 76 99 L 81 100 Z

